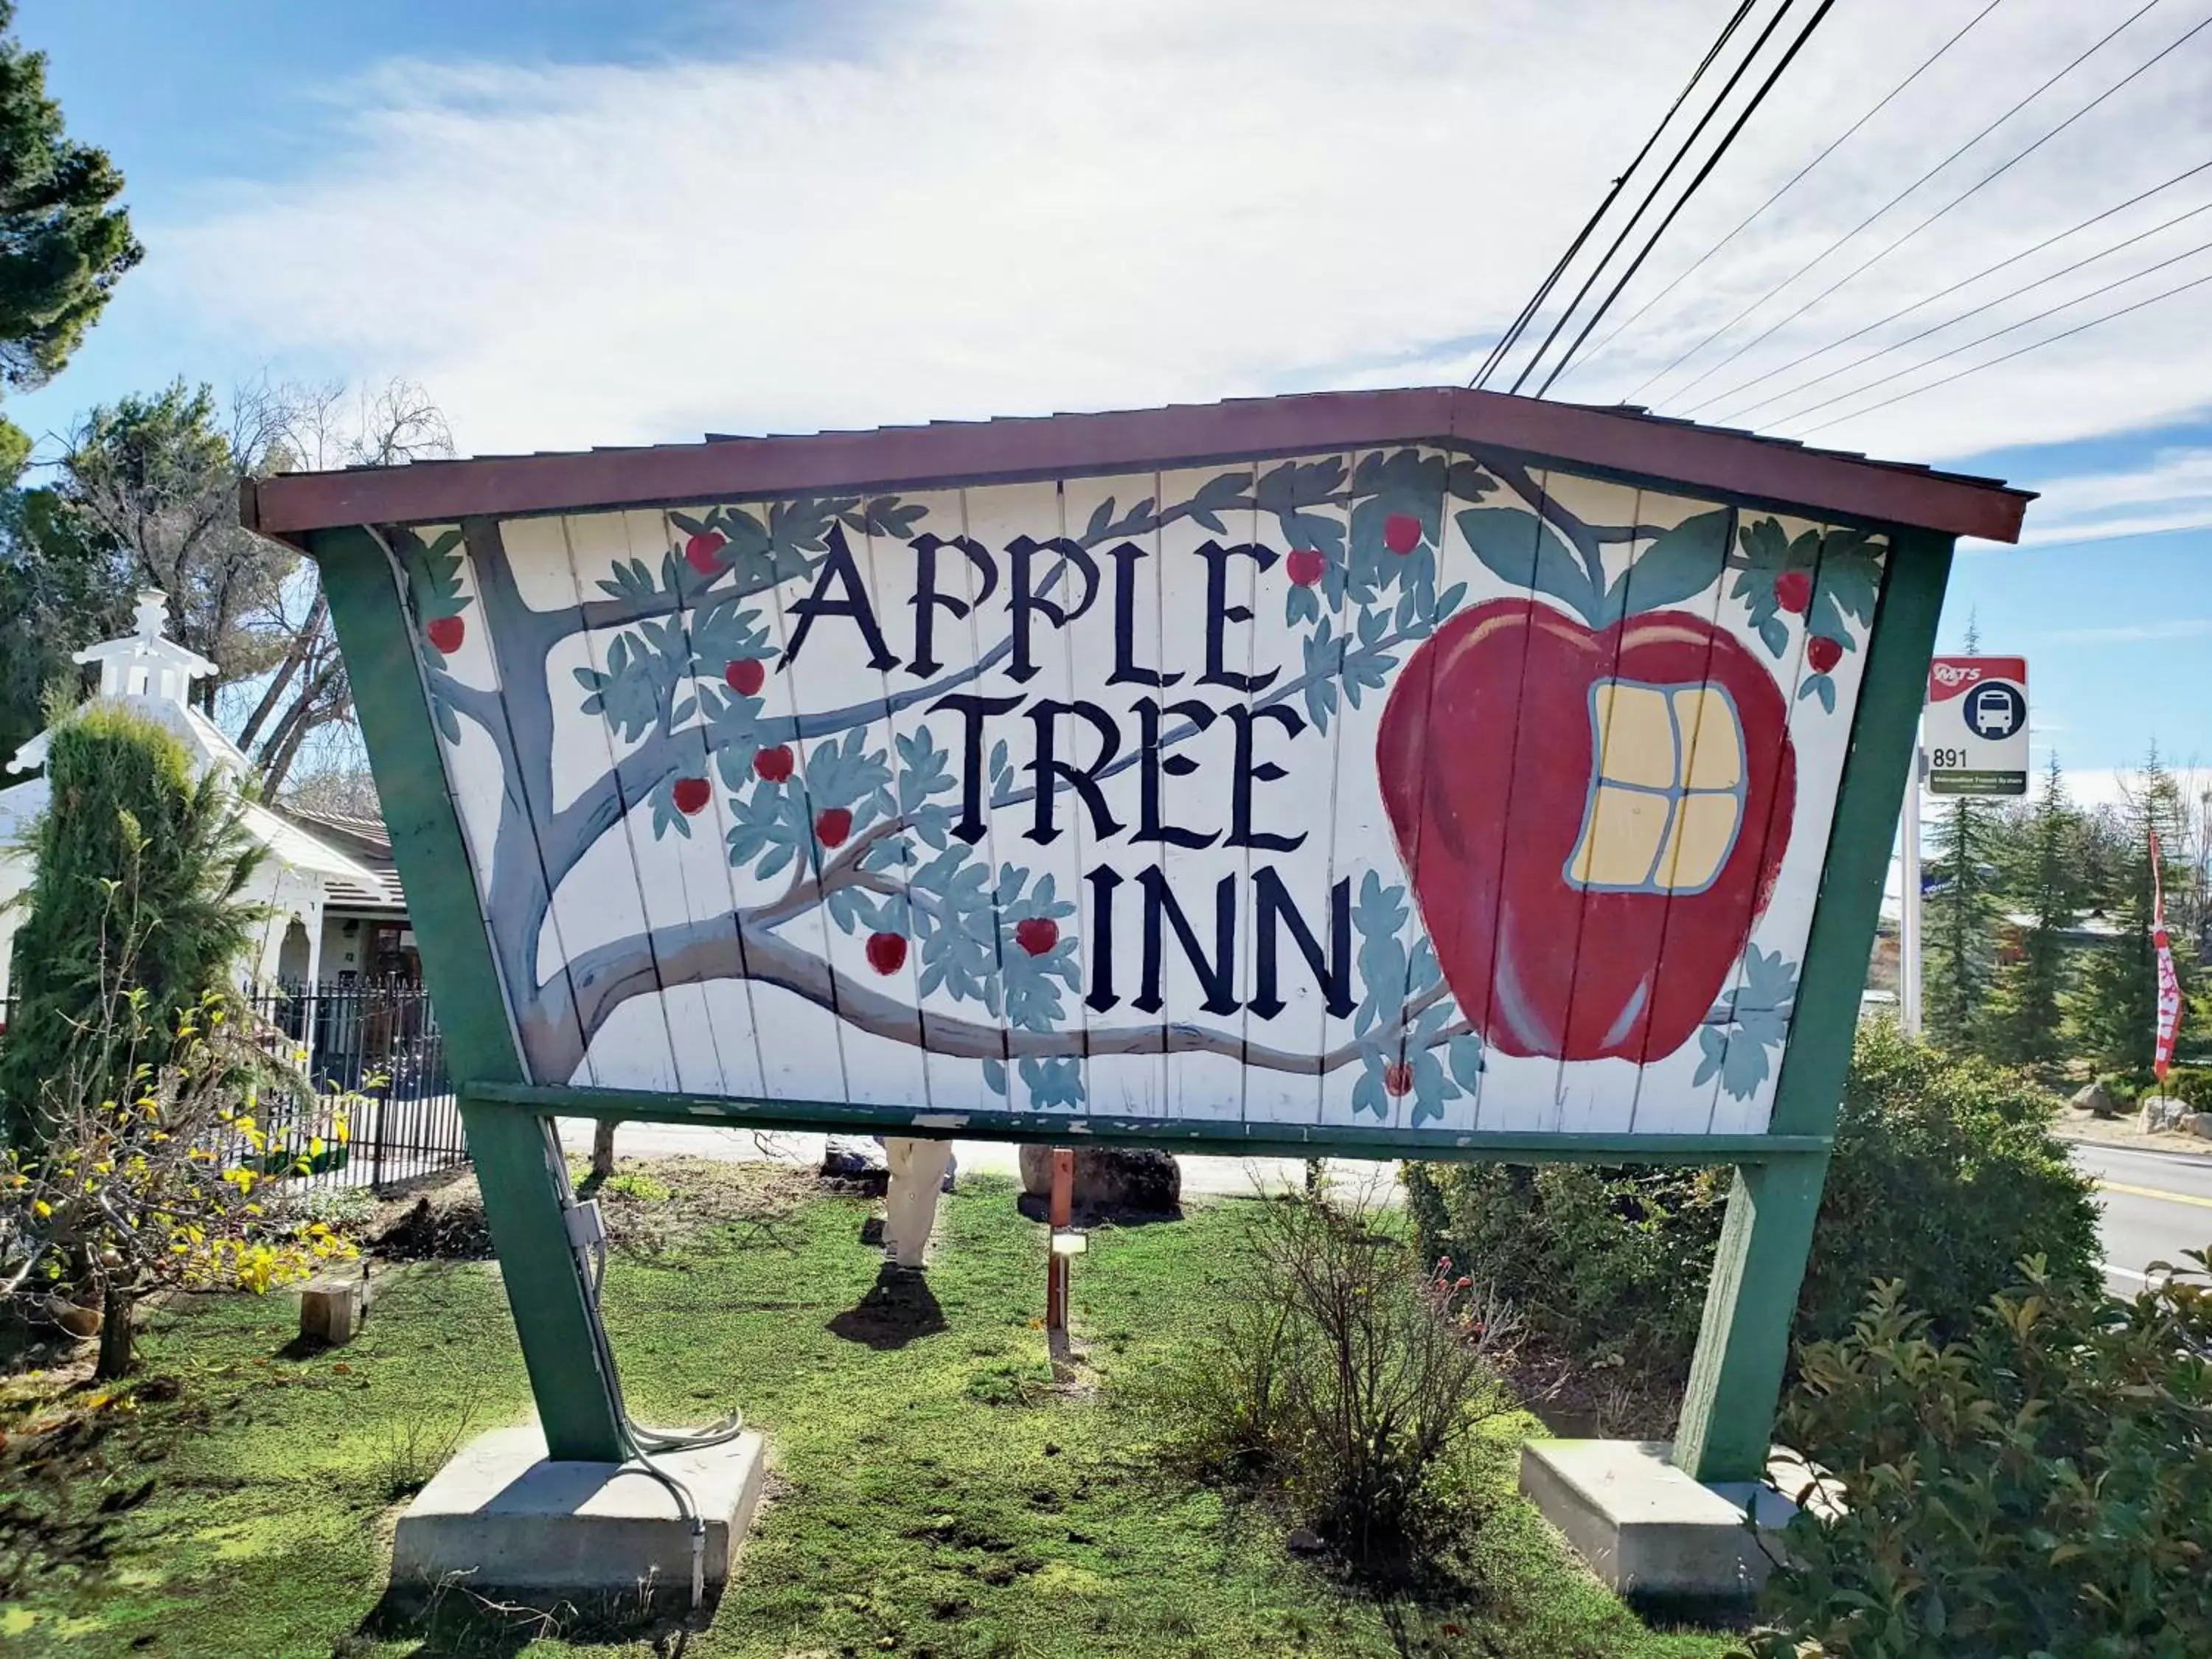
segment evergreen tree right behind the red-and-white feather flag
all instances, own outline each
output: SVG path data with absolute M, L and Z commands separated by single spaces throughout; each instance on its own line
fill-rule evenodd
M 2068 1004 L 2077 1053 L 2112 1071 L 2150 1073 L 2159 1011 L 2157 949 L 2150 940 L 2150 832 L 2159 832 L 2166 887 L 2179 891 L 2188 883 L 2188 869 L 2170 849 L 2177 845 L 2181 816 L 2181 787 L 2152 750 L 2117 814 L 2119 872 L 2112 891 L 2104 896 L 2104 911 L 2119 933 L 2090 951 Z M 2181 995 L 2188 998 L 2197 978 L 2194 951 L 2183 933 L 2174 933 L 2172 949 Z

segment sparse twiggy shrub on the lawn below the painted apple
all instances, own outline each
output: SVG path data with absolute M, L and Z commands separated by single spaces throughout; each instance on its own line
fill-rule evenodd
M 1356 1566 L 1394 1573 L 1480 1520 L 1475 1438 L 1513 1407 L 1513 1318 L 1422 1267 L 1365 1203 L 1259 1203 L 1219 1327 L 1161 1389 L 1170 1451 L 1290 1498 Z

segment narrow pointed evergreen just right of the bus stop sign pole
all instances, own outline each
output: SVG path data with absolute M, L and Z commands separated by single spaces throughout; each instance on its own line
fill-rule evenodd
M 2081 816 L 2066 799 L 2057 754 L 2044 792 L 2020 834 L 2002 849 L 2000 874 L 2026 916 L 2017 951 L 1997 967 L 1991 995 L 1991 1053 L 2013 1066 L 2048 1066 L 2064 1055 L 2064 998 L 2070 978 L 2066 933 L 2081 920 Z

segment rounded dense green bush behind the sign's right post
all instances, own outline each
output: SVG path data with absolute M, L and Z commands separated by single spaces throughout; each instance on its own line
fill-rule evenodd
M 1858 1031 L 1836 1121 L 1801 1340 L 1843 1336 L 1876 1279 L 1902 1279 L 1942 1336 L 2042 1254 L 2090 1283 L 2090 1188 L 2046 1128 L 2051 1102 L 2013 1073 Z M 1531 1329 L 1586 1363 L 1677 1378 L 1705 1301 L 1728 1170 L 1409 1164 L 1429 1254 L 1498 1285 Z

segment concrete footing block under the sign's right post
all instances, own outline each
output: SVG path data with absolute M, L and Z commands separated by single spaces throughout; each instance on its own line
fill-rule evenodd
M 1668 1462 L 1666 1440 L 1531 1440 L 1520 1486 L 1590 1571 L 1637 1601 L 1745 1601 L 1772 1559 L 1759 1528 L 1796 1506 L 1772 1486 L 1701 1486 Z

